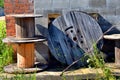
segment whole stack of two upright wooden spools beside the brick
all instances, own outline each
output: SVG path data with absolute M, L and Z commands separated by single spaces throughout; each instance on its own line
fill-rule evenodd
M 43 38 L 35 38 L 34 18 L 42 16 L 34 14 L 15 14 L 7 16 L 13 16 L 16 19 L 16 37 L 5 38 L 3 39 L 3 42 L 17 45 L 17 65 L 8 65 L 4 68 L 4 70 L 8 73 L 21 72 L 21 70 L 27 73 L 47 68 L 47 66 L 40 66 L 41 68 L 36 69 L 34 65 L 35 42 L 43 42 L 45 40 Z

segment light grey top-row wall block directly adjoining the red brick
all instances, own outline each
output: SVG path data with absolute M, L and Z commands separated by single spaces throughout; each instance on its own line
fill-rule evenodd
M 34 1 L 35 9 L 51 9 L 52 8 L 52 0 L 35 0 Z

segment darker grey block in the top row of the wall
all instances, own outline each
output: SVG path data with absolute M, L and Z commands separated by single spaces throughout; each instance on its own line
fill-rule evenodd
M 106 0 L 89 0 L 89 7 L 106 7 Z

